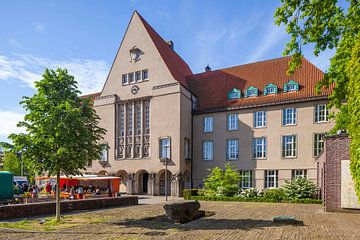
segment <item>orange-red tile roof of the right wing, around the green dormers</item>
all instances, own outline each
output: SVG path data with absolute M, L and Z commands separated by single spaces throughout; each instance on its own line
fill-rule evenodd
M 282 57 L 204 72 L 188 76 L 187 80 L 190 90 L 197 96 L 199 112 L 325 98 L 330 94 L 330 89 L 316 93 L 316 83 L 323 78 L 324 73 L 305 58 L 302 67 L 288 76 L 286 71 L 289 60 L 290 57 Z M 284 83 L 289 80 L 299 83 L 299 91 L 282 91 Z M 263 95 L 264 87 L 269 83 L 278 86 L 278 94 Z M 250 86 L 259 89 L 259 96 L 244 97 L 244 91 Z M 241 90 L 241 99 L 228 101 L 227 94 L 233 88 Z

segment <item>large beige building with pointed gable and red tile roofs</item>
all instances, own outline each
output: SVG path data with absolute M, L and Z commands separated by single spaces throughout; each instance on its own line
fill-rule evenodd
M 119 176 L 129 194 L 173 196 L 226 163 L 241 170 L 244 188 L 298 175 L 315 181 L 315 158 L 333 127 L 329 90 L 315 92 L 323 73 L 306 59 L 288 76 L 289 60 L 193 74 L 135 12 L 102 91 L 92 95 L 107 133 L 86 173 Z

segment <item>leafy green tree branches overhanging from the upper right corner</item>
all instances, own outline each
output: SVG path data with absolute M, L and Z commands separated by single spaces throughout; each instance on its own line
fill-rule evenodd
M 291 35 L 284 55 L 292 55 L 288 74 L 301 67 L 303 45 L 312 44 L 314 54 L 335 49 L 330 68 L 317 86 L 333 88 L 329 107 L 336 126 L 332 130 L 347 130 L 351 139 L 351 173 L 357 195 L 360 196 L 360 5 L 358 0 L 347 0 L 342 8 L 338 0 L 281 0 L 275 12 L 275 23 L 284 24 Z

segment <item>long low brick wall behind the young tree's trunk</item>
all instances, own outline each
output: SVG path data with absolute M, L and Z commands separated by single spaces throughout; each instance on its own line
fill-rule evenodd
M 98 208 L 137 205 L 137 196 L 113 198 L 95 198 L 82 200 L 66 200 L 60 203 L 61 212 L 89 210 Z M 0 220 L 9 218 L 24 218 L 37 215 L 55 214 L 55 202 L 29 203 L 19 205 L 0 206 Z

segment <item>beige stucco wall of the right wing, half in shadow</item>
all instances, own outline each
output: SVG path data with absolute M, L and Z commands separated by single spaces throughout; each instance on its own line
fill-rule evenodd
M 243 109 L 237 111 L 200 114 L 194 116 L 194 185 L 198 186 L 206 177 L 208 171 L 215 166 L 224 166 L 230 162 L 242 170 L 255 170 L 253 173 L 254 186 L 264 187 L 264 170 L 279 170 L 279 186 L 286 179 L 291 178 L 292 169 L 307 169 L 309 179 L 316 180 L 315 158 L 313 156 L 314 133 L 329 131 L 334 123 L 315 123 L 314 106 L 326 103 L 325 101 L 294 103 Z M 295 126 L 282 126 L 282 109 L 297 108 L 297 124 Z M 266 127 L 253 128 L 255 111 L 266 111 Z M 239 129 L 227 130 L 227 115 L 237 113 Z M 214 131 L 203 133 L 203 118 L 214 117 Z M 297 157 L 286 159 L 281 156 L 281 136 L 288 134 L 297 135 Z M 267 138 L 266 159 L 255 160 L 252 158 L 252 139 L 256 137 Z M 239 139 L 239 160 L 226 160 L 226 140 Z M 202 160 L 202 141 L 214 141 L 214 160 Z

